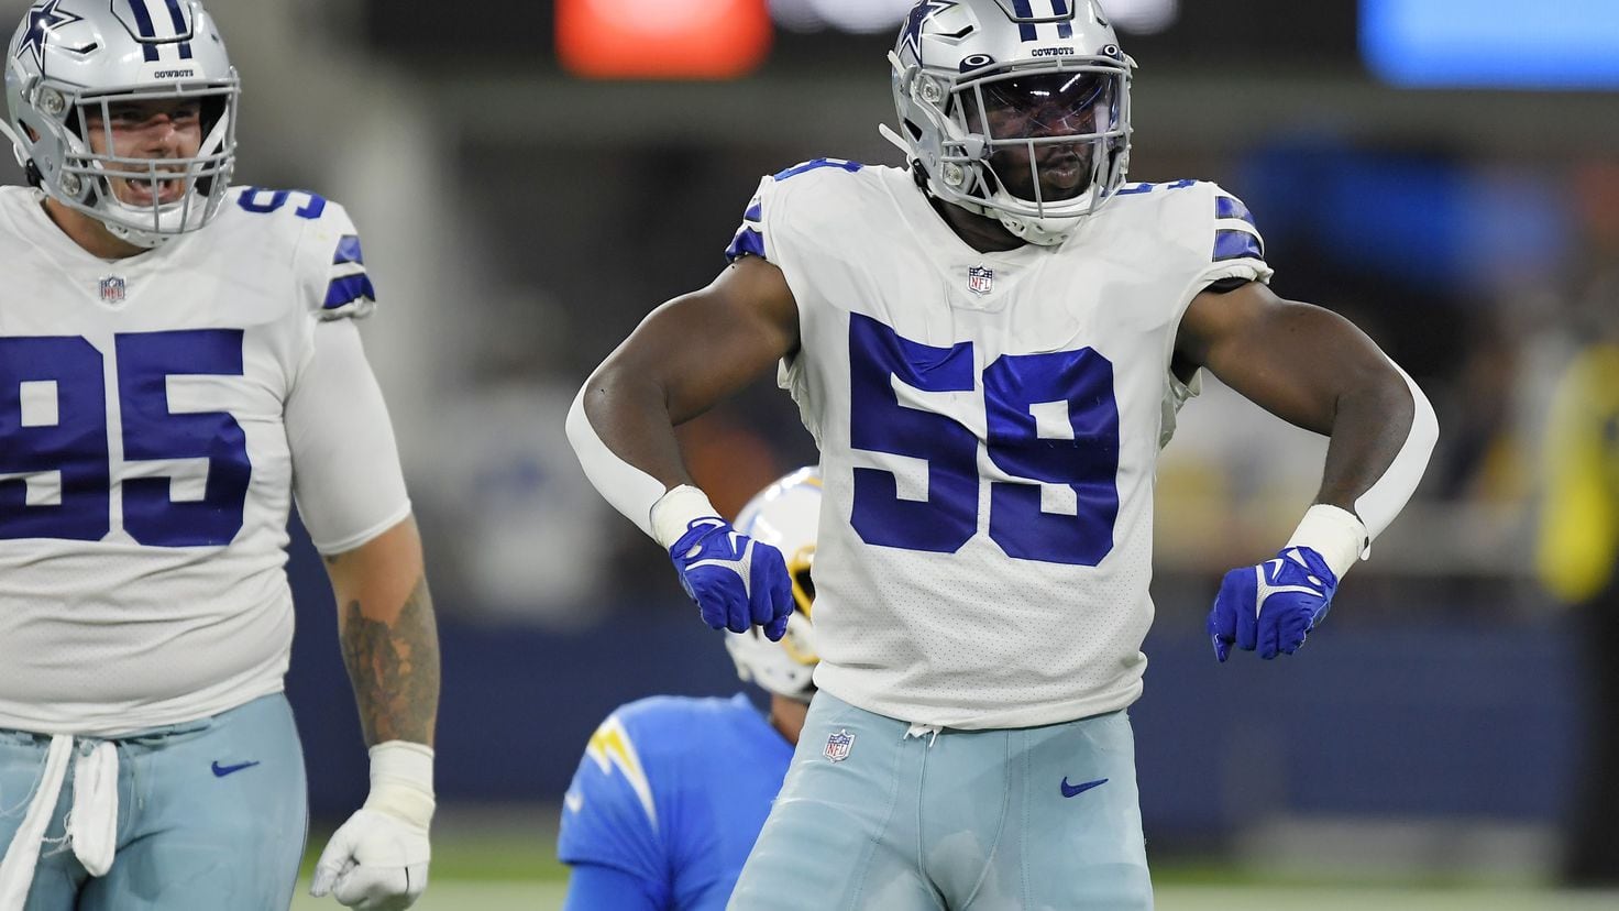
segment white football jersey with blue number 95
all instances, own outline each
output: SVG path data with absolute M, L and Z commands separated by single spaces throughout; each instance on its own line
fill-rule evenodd
M 355 227 L 233 190 L 209 227 L 105 261 L 40 199 L 0 188 L 0 728 L 117 736 L 278 692 L 285 405 L 317 324 L 374 306 Z M 374 491 L 316 541 L 408 514 L 397 457 L 298 473 L 304 499 Z

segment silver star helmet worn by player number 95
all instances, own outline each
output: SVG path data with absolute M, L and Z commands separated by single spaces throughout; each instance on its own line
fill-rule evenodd
M 199 0 L 37 0 L 6 47 L 0 131 L 52 199 L 151 248 L 219 214 L 236 159 L 240 94 L 225 42 Z M 117 105 L 167 99 L 199 102 L 198 154 L 117 156 Z M 120 199 L 118 183 L 144 185 L 149 201 Z

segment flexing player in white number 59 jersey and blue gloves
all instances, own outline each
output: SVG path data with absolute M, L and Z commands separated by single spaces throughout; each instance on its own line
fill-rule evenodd
M 716 515 L 672 428 L 779 365 L 821 447 L 819 691 L 733 908 L 1149 908 L 1125 708 L 1177 408 L 1206 368 L 1331 436 L 1297 532 L 1221 584 L 1222 661 L 1303 644 L 1433 410 L 1269 290 L 1235 196 L 1125 183 L 1133 62 L 1094 2 L 921 0 L 890 65 L 907 169 L 764 178 L 730 267 L 643 321 L 568 433 L 703 618 L 771 635 L 782 558 Z

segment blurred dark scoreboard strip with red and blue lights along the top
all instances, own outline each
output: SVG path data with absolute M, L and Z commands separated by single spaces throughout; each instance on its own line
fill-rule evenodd
M 363 0 L 416 66 L 622 79 L 884 71 L 910 0 Z M 1143 73 L 1371 73 L 1407 88 L 1619 88 L 1619 0 L 1104 0 Z M 1213 73 L 1211 73 L 1213 70 Z

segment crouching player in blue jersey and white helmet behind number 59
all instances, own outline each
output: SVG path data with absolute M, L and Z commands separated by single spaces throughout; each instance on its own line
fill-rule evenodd
M 814 684 L 810 629 L 821 477 L 800 468 L 754 496 L 737 528 L 787 558 L 793 613 L 780 642 L 725 634 L 742 679 L 771 692 L 761 716 L 732 699 L 656 695 L 602 721 L 573 775 L 557 854 L 573 867 L 568 911 L 725 906 L 782 786 Z

